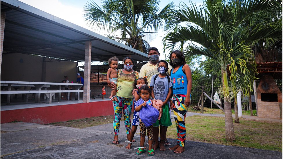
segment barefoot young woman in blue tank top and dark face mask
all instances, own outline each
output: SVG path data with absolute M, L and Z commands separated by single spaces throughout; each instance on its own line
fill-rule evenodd
M 191 104 L 190 94 L 192 89 L 192 73 L 185 64 L 185 57 L 182 52 L 175 50 L 170 54 L 171 79 L 173 80 L 173 99 L 170 106 L 173 108 L 175 123 L 177 127 L 177 145 L 169 148 L 175 153 L 185 151 L 186 126 L 185 118 L 189 105 Z

